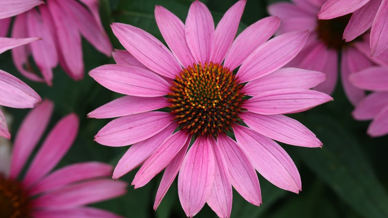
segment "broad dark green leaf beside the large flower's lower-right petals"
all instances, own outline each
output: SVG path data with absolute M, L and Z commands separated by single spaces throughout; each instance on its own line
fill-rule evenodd
M 364 217 L 388 217 L 388 196 L 354 135 L 330 116 L 308 116 L 305 123 L 322 149 L 298 149 L 304 163 L 350 207 Z

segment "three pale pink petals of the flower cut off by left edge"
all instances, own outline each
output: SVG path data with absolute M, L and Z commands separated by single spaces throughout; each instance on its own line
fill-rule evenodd
M 1 6 L 1 4 L 0 4 Z M 39 40 L 40 38 L 12 39 L 0 37 L 0 54 L 4 51 Z M 0 70 L 0 106 L 11 108 L 33 108 L 42 101 L 39 95 L 16 77 Z M 10 138 L 11 135 L 0 110 L 0 137 Z

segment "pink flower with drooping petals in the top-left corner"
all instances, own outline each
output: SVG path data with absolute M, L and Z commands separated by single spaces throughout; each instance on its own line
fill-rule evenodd
M 18 0 L 19 1 L 19 0 Z M 101 25 L 98 0 L 46 0 L 14 18 L 11 37 L 42 37 L 42 41 L 12 50 L 16 68 L 30 80 L 52 84 L 59 64 L 74 80 L 84 77 L 81 35 L 98 51 L 110 56 L 112 46 Z M 0 36 L 8 32 L 10 18 L 0 20 Z M 42 76 L 34 72 L 32 55 Z

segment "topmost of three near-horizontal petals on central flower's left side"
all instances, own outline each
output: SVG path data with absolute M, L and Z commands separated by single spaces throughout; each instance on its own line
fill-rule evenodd
M 103 87 L 125 95 L 158 97 L 170 92 L 165 80 L 138 67 L 107 64 L 91 70 L 89 75 Z

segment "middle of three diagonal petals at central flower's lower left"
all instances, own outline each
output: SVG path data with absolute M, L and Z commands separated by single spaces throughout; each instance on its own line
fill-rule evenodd
M 162 142 L 159 148 L 140 167 L 132 181 L 135 189 L 146 185 L 178 154 L 189 139 L 186 131 L 178 131 Z

